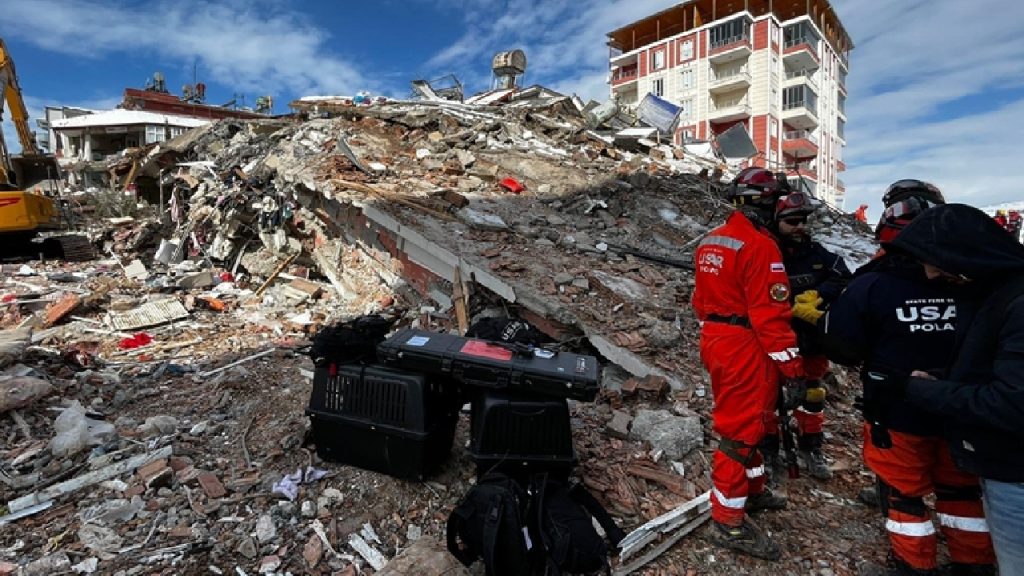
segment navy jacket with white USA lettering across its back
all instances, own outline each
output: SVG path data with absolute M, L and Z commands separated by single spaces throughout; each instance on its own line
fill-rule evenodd
M 942 369 L 955 341 L 959 300 L 949 287 L 929 282 L 916 262 L 885 254 L 871 261 L 817 323 L 825 356 L 868 372 L 906 377 L 914 369 Z M 866 384 L 865 384 L 866 385 Z M 935 415 L 892 399 L 882 421 L 919 436 L 939 436 Z

